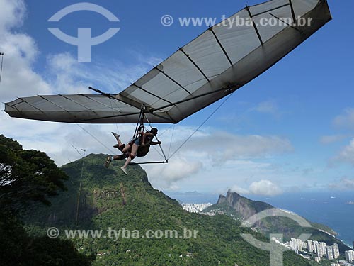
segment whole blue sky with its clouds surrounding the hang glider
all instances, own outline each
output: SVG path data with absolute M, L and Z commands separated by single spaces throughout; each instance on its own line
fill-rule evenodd
M 178 18 L 231 16 L 260 1 L 90 1 L 120 22 L 98 13 L 71 13 L 47 20 L 79 1 L 0 0 L 0 52 L 5 53 L 1 102 L 17 96 L 91 93 L 89 86 L 120 92 L 205 31 L 179 25 Z M 219 109 L 169 165 L 144 167 L 154 187 L 166 192 L 198 191 L 272 196 L 290 191 L 354 190 L 354 77 L 352 0 L 329 1 L 333 20 L 267 72 L 242 87 Z M 171 15 L 172 26 L 161 24 Z M 77 48 L 47 28 L 76 35 L 91 28 L 101 35 L 120 28 L 92 48 L 89 63 L 77 62 Z M 219 105 L 176 126 L 173 148 Z M 2 107 L 4 109 L 4 107 Z M 58 165 L 88 153 L 110 153 L 76 125 L 22 121 L 1 112 L 0 133 L 24 148 L 45 151 Z M 109 147 L 110 131 L 129 138 L 132 125 L 85 126 Z M 168 126 L 159 126 L 163 132 Z M 161 135 L 169 149 L 169 135 Z M 232 143 L 232 144 L 230 144 Z M 229 145 L 226 147 L 225 145 Z M 152 157 L 157 155 L 152 155 Z M 178 169 L 178 171 L 176 171 Z

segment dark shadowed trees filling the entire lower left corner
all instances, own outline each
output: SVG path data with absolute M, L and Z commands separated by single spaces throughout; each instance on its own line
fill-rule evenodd
M 91 265 L 96 256 L 79 253 L 69 240 L 28 235 L 19 215 L 33 201 L 49 205 L 67 178 L 45 153 L 0 135 L 0 265 Z

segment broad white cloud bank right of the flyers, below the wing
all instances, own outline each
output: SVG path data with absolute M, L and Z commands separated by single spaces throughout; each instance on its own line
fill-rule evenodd
M 176 126 L 170 153 L 172 129 L 159 130 L 159 138 L 166 155 L 171 157 L 194 130 L 195 128 L 189 126 Z M 215 176 L 212 177 L 214 174 L 211 173 L 214 172 L 219 182 L 227 183 L 230 178 L 234 178 L 235 170 L 239 175 L 249 173 L 251 169 L 251 172 L 258 176 L 269 176 L 273 171 L 272 166 L 266 162 L 253 162 L 252 159 L 268 158 L 290 150 L 290 141 L 276 136 L 234 135 L 215 131 L 214 128 L 202 128 L 171 157 L 168 165 L 143 167 L 148 171 L 152 184 L 160 189 L 171 189 L 170 186 L 176 188 L 176 184 L 192 184 L 192 179 L 193 184 L 203 182 L 202 180 L 213 183 Z M 161 155 L 152 157 L 149 154 L 149 158 L 161 160 Z M 185 182 L 185 179 L 188 179 L 188 182 Z

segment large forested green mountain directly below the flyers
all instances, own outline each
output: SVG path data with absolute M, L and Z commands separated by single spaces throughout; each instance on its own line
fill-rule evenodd
M 56 227 L 60 237 L 67 238 L 65 230 L 96 230 L 91 231 L 96 235 L 80 238 L 76 231 L 75 238 L 69 237 L 81 253 L 96 255 L 93 265 L 269 265 L 267 251 L 241 238 L 241 233 L 249 233 L 269 242 L 260 233 L 241 228 L 228 216 L 188 213 L 154 189 L 139 165 L 130 165 L 125 175 L 119 169 L 122 162 L 103 167 L 105 157 L 91 154 L 64 165 L 67 191 L 53 197 L 50 207 L 27 209 L 23 216 L 28 231 L 43 235 Z M 284 265 L 309 262 L 287 251 Z

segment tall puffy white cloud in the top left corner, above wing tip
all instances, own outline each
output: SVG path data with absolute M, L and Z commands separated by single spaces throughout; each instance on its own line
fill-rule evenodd
M 0 52 L 5 53 L 0 84 L 1 101 L 50 92 L 47 82 L 33 71 L 33 62 L 39 54 L 35 40 L 17 31 L 24 17 L 23 1 L 1 1 Z

